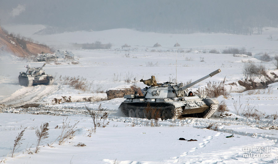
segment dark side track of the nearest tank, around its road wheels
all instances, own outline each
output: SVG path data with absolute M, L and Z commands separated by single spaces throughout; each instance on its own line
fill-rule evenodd
M 167 113 L 171 113 L 171 117 L 167 118 L 167 119 L 178 119 L 181 114 L 182 114 L 182 107 L 179 108 L 175 108 L 173 105 L 169 105 L 166 107 L 150 107 L 152 109 L 156 109 L 157 111 L 160 111 L 160 113 L 162 113 L 162 111 L 166 110 Z M 125 116 L 130 117 L 129 116 L 129 110 L 133 109 L 134 111 L 136 111 L 137 109 L 141 109 L 144 113 L 144 110 L 146 109 L 146 107 L 140 107 L 140 106 L 134 106 L 134 105 L 128 105 L 127 103 L 124 103 L 123 106 L 121 107 L 121 111 L 124 113 Z M 161 117 L 162 114 L 160 114 Z M 136 116 L 135 116 L 136 117 Z M 144 118 L 147 118 L 148 116 L 143 115 Z M 139 118 L 141 118 L 139 116 Z M 164 119 L 164 118 L 162 118 Z

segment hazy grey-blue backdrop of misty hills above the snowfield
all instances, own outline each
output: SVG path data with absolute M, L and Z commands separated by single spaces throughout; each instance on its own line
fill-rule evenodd
M 0 19 L 72 31 L 237 31 L 258 21 L 277 26 L 278 0 L 0 0 Z

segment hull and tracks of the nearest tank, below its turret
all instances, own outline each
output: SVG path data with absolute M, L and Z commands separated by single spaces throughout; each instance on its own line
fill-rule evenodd
M 156 102 L 160 101 L 160 102 Z M 119 109 L 125 117 L 161 118 L 162 120 L 183 117 L 209 118 L 217 110 L 216 99 L 192 99 L 175 101 L 169 99 L 165 102 L 148 99 L 127 99 L 121 103 Z

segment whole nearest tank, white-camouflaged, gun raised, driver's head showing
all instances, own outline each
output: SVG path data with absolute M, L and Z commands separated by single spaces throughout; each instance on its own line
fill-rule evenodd
M 216 98 L 205 95 L 193 95 L 187 88 L 221 72 L 220 69 L 203 78 L 183 86 L 183 83 L 157 84 L 154 76 L 149 80 L 140 80 L 150 86 L 143 91 L 144 96 L 125 95 L 119 109 L 126 117 L 177 119 L 181 117 L 209 118 L 218 108 Z M 189 95 L 190 94 L 190 95 Z

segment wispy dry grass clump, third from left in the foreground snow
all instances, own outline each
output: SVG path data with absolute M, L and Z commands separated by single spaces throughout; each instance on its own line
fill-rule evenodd
M 61 135 L 57 138 L 59 139 L 58 145 L 62 145 L 69 139 L 72 139 L 74 137 L 74 133 L 78 131 L 76 130 L 76 125 L 78 124 L 79 121 L 74 125 L 70 126 L 70 121 L 67 122 L 67 119 L 68 117 L 66 118 L 66 120 L 63 120 L 63 125 L 61 127 Z

